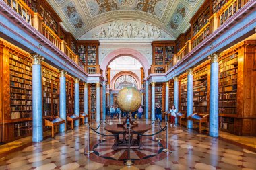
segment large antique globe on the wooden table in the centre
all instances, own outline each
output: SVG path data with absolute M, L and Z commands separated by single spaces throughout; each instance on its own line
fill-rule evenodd
M 133 112 L 141 105 L 141 93 L 134 87 L 124 87 L 117 94 L 117 104 L 123 112 Z

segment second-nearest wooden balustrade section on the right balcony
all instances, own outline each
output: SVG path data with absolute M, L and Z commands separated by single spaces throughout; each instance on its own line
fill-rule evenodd
M 191 38 L 192 48 L 195 48 L 200 44 L 207 36 L 210 35 L 210 24 L 207 22 L 203 28 L 193 38 Z

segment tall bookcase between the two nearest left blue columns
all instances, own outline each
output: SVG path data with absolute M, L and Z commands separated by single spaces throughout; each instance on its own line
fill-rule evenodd
M 45 62 L 42 65 L 42 115 L 59 115 L 59 73 Z

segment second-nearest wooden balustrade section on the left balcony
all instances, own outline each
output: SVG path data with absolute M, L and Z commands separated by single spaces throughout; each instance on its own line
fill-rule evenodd
M 51 30 L 44 22 L 42 22 L 42 32 L 48 40 L 50 40 L 57 48 L 61 50 L 61 38 Z

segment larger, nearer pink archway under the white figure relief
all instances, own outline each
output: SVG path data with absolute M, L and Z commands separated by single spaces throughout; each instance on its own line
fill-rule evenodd
M 110 65 L 110 62 L 112 62 L 116 58 L 119 58 L 120 56 L 131 56 L 136 60 L 138 60 L 144 69 L 145 77 L 148 77 L 148 69 L 150 69 L 150 63 L 148 62 L 147 58 L 137 50 L 130 49 L 130 48 L 119 48 L 117 50 L 113 50 L 113 52 L 110 52 L 104 58 L 104 60 L 102 60 L 100 69 L 103 70 L 103 76 L 105 78 L 106 78 L 106 69 L 108 68 L 108 65 Z

